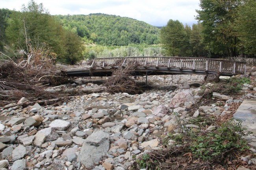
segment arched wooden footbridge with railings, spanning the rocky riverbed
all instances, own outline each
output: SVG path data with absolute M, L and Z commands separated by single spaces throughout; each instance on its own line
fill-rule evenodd
M 69 69 L 67 76 L 72 77 L 105 77 L 111 76 L 114 70 L 127 69 L 134 76 L 143 75 L 207 75 L 221 72 L 221 75 L 232 76 L 246 73 L 243 61 L 218 60 L 210 58 L 187 57 L 111 57 L 95 58 L 91 66 L 83 69 Z

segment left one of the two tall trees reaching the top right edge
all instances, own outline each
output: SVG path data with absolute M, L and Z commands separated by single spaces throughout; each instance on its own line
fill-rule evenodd
M 202 22 L 204 42 L 215 53 L 236 55 L 237 33 L 234 21 L 237 7 L 242 0 L 200 0 L 201 10 L 196 10 L 197 20 Z

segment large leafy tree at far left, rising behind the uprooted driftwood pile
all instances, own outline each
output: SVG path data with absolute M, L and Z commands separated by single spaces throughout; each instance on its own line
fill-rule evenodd
M 41 42 L 47 43 L 58 54 L 63 53 L 64 30 L 50 15 L 43 4 L 31 0 L 28 5 L 22 5 L 21 12 L 13 11 L 6 34 L 19 49 L 28 51 L 28 41 L 32 46 Z

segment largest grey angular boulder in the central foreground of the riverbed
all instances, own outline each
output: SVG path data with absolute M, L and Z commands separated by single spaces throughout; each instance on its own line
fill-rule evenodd
M 85 168 L 93 167 L 108 153 L 110 135 L 103 131 L 95 131 L 83 143 L 77 162 Z

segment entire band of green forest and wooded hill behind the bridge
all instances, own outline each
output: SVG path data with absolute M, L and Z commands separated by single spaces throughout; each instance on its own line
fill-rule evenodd
M 102 13 L 51 15 L 30 0 L 20 11 L 0 9 L 0 54 L 18 59 L 30 48 L 43 49 L 67 64 L 95 57 L 254 57 L 256 1 L 200 0 L 199 5 L 196 24 L 170 19 L 156 27 Z

